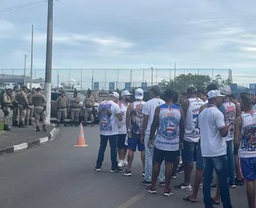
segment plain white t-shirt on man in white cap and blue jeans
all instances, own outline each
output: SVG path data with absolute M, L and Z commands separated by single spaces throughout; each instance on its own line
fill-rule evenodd
M 208 105 L 198 116 L 201 133 L 202 157 L 217 157 L 226 154 L 226 139 L 219 129 L 225 127 L 224 115 L 216 106 Z

